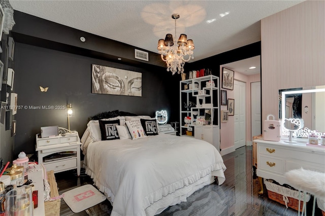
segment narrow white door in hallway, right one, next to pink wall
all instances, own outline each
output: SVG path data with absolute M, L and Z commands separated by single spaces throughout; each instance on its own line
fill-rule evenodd
M 262 134 L 261 123 L 261 82 L 251 83 L 251 140 L 253 136 Z

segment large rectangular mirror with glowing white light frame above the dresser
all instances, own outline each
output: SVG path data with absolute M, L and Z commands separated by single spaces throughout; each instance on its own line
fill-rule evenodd
M 296 137 L 307 138 L 310 134 L 325 133 L 325 86 L 279 90 L 279 110 L 282 119 L 282 135 L 295 132 Z M 287 122 L 301 119 L 304 126 L 289 130 Z M 292 138 L 290 136 L 289 138 Z

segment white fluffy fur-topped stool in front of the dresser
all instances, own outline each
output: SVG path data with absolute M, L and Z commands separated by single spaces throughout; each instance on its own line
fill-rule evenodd
M 314 196 L 312 209 L 312 215 L 314 216 L 316 198 L 325 200 L 325 173 L 301 168 L 290 170 L 284 175 L 289 185 L 304 192 L 304 197 L 306 197 L 306 193 Z M 300 215 L 300 201 L 301 193 L 299 193 L 298 215 Z M 302 215 L 307 215 L 306 199 L 303 203 Z

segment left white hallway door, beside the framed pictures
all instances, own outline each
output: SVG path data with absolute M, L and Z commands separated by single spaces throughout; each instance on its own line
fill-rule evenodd
M 235 149 L 246 146 L 246 83 L 234 81 Z

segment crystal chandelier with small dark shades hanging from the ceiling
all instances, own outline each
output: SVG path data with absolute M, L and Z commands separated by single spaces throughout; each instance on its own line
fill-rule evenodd
M 175 19 L 175 38 L 176 38 L 176 20 L 179 18 L 179 14 L 172 14 L 172 18 Z M 178 41 L 173 41 L 172 34 L 166 34 L 166 38 L 158 41 L 159 53 L 161 59 L 167 63 L 167 71 L 175 73 L 184 73 L 184 64 L 193 59 L 194 43 L 192 40 L 187 40 L 186 34 L 180 34 Z

